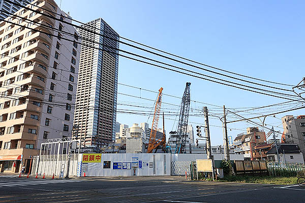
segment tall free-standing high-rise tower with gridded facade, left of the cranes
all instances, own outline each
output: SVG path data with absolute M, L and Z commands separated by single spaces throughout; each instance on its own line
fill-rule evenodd
M 119 37 L 101 18 L 81 27 L 91 41 L 82 40 L 76 105 L 88 108 L 75 110 L 74 123 L 86 146 L 101 147 L 115 140 Z

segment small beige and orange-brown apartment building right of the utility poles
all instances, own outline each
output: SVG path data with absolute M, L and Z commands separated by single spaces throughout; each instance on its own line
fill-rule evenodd
M 240 133 L 233 141 L 235 154 L 243 154 L 245 160 L 255 159 L 255 146 L 266 143 L 266 134 L 258 127 L 248 127 L 247 133 Z

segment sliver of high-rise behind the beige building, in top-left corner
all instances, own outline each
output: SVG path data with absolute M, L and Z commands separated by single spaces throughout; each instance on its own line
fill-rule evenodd
M 12 2 L 22 5 L 22 6 L 26 6 L 29 3 L 31 3 L 33 0 L 11 0 Z M 0 20 L 3 20 L 5 18 L 7 18 L 8 16 L 10 16 L 8 13 L 15 13 L 16 11 L 18 11 L 21 7 L 18 5 L 14 5 L 11 4 L 9 2 L 5 2 L 3 0 L 0 0 L 0 11 L 2 11 L 0 13 Z M 5 12 L 6 11 L 6 12 Z

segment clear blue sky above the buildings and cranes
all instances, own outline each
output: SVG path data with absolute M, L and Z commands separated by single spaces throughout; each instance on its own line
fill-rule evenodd
M 302 70 L 304 70 L 303 8 L 305 5 L 302 1 L 90 0 L 85 2 L 84 4 L 84 1 L 80 0 L 63 0 L 61 8 L 65 12 L 69 11 L 70 15 L 79 21 L 87 22 L 101 17 L 122 37 L 228 71 L 295 85 L 304 77 Z M 59 5 L 60 1 L 56 0 L 56 3 Z M 126 46 L 120 48 L 169 62 Z M 198 71 L 189 66 L 171 63 Z M 204 71 L 200 72 L 212 75 Z M 192 100 L 217 106 L 226 105 L 228 108 L 259 107 L 286 101 L 173 73 L 123 57 L 119 58 L 118 81 L 155 91 L 162 86 L 164 93 L 176 96 L 182 96 L 186 82 L 191 82 Z M 157 97 L 154 93 L 140 92 L 121 85 L 118 86 L 118 92 L 141 95 L 150 99 Z M 126 104 L 126 101 L 143 103 L 139 105 L 147 107 L 153 106 L 151 101 L 118 94 L 118 103 Z M 180 104 L 179 99 L 168 96 L 164 96 L 163 101 Z M 196 114 L 195 109 L 200 109 L 202 106 L 192 102 L 190 114 Z M 175 106 L 164 105 L 164 108 L 166 111 L 177 111 Z M 221 109 L 212 108 L 214 107 L 208 106 L 208 109 L 214 110 L 211 114 L 221 113 Z M 118 109 L 143 110 L 128 106 L 118 106 Z M 260 113 L 273 110 L 276 109 L 261 110 Z M 287 113 L 295 116 L 304 114 L 304 110 Z M 280 128 L 276 130 L 281 130 L 281 120 L 278 118 L 284 115 L 277 115 L 277 118 L 268 117 L 266 123 L 279 126 Z M 175 119 L 175 117 L 170 118 Z M 222 125 L 219 119 L 210 118 L 211 125 Z M 146 122 L 147 119 L 147 116 L 117 115 L 118 122 L 128 125 Z M 234 119 L 228 118 L 228 120 Z M 151 124 L 151 117 L 148 121 Z M 204 122 L 203 118 L 194 116 L 190 116 L 189 121 Z M 260 122 L 258 119 L 254 121 Z M 161 127 L 161 122 L 159 126 Z M 228 124 L 229 128 L 246 129 L 248 126 L 253 125 L 247 122 Z M 176 128 L 174 121 L 166 120 L 167 132 L 172 128 Z M 243 131 L 232 129 L 229 130 L 229 135 L 234 138 L 240 132 Z M 210 134 L 212 145 L 222 144 L 221 127 L 211 126 Z

